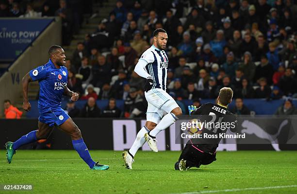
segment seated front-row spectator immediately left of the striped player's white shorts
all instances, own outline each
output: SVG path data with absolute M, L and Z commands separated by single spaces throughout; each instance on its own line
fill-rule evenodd
M 143 96 L 137 93 L 136 88 L 130 88 L 129 95 L 124 102 L 125 118 L 145 117 L 147 111 L 147 102 Z

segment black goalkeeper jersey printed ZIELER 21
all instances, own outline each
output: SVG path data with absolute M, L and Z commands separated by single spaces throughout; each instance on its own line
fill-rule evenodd
M 190 140 L 199 150 L 214 154 L 227 130 L 236 132 L 237 119 L 226 107 L 206 103 L 191 113 L 192 117 L 204 122 L 201 137 Z

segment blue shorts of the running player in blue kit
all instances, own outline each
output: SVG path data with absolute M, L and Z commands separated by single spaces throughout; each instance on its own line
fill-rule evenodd
M 40 113 L 39 121 L 41 123 L 49 124 L 49 126 L 53 126 L 55 123 L 57 125 L 61 125 L 66 122 L 66 120 L 70 118 L 67 113 L 62 109 L 58 108 L 55 110 L 50 110 L 49 112 Z

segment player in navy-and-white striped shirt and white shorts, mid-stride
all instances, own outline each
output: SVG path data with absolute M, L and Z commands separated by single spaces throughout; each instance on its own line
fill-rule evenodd
M 137 150 L 147 141 L 153 152 L 158 152 L 156 136 L 178 120 L 182 114 L 175 100 L 166 93 L 168 57 L 164 51 L 168 40 L 164 29 L 156 29 L 153 33 L 153 45 L 145 51 L 134 71 L 146 78 L 144 86 L 148 101 L 147 122 L 137 133 L 136 139 L 128 152 L 123 152 L 127 169 L 132 169 L 133 158 Z

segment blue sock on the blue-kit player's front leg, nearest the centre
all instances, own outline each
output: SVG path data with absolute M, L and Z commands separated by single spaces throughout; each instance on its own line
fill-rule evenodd
M 83 159 L 85 163 L 89 165 L 90 168 L 93 168 L 96 162 L 90 156 L 89 150 L 86 147 L 85 143 L 82 139 L 72 140 L 72 145 L 74 149 L 79 153 L 80 157 Z

